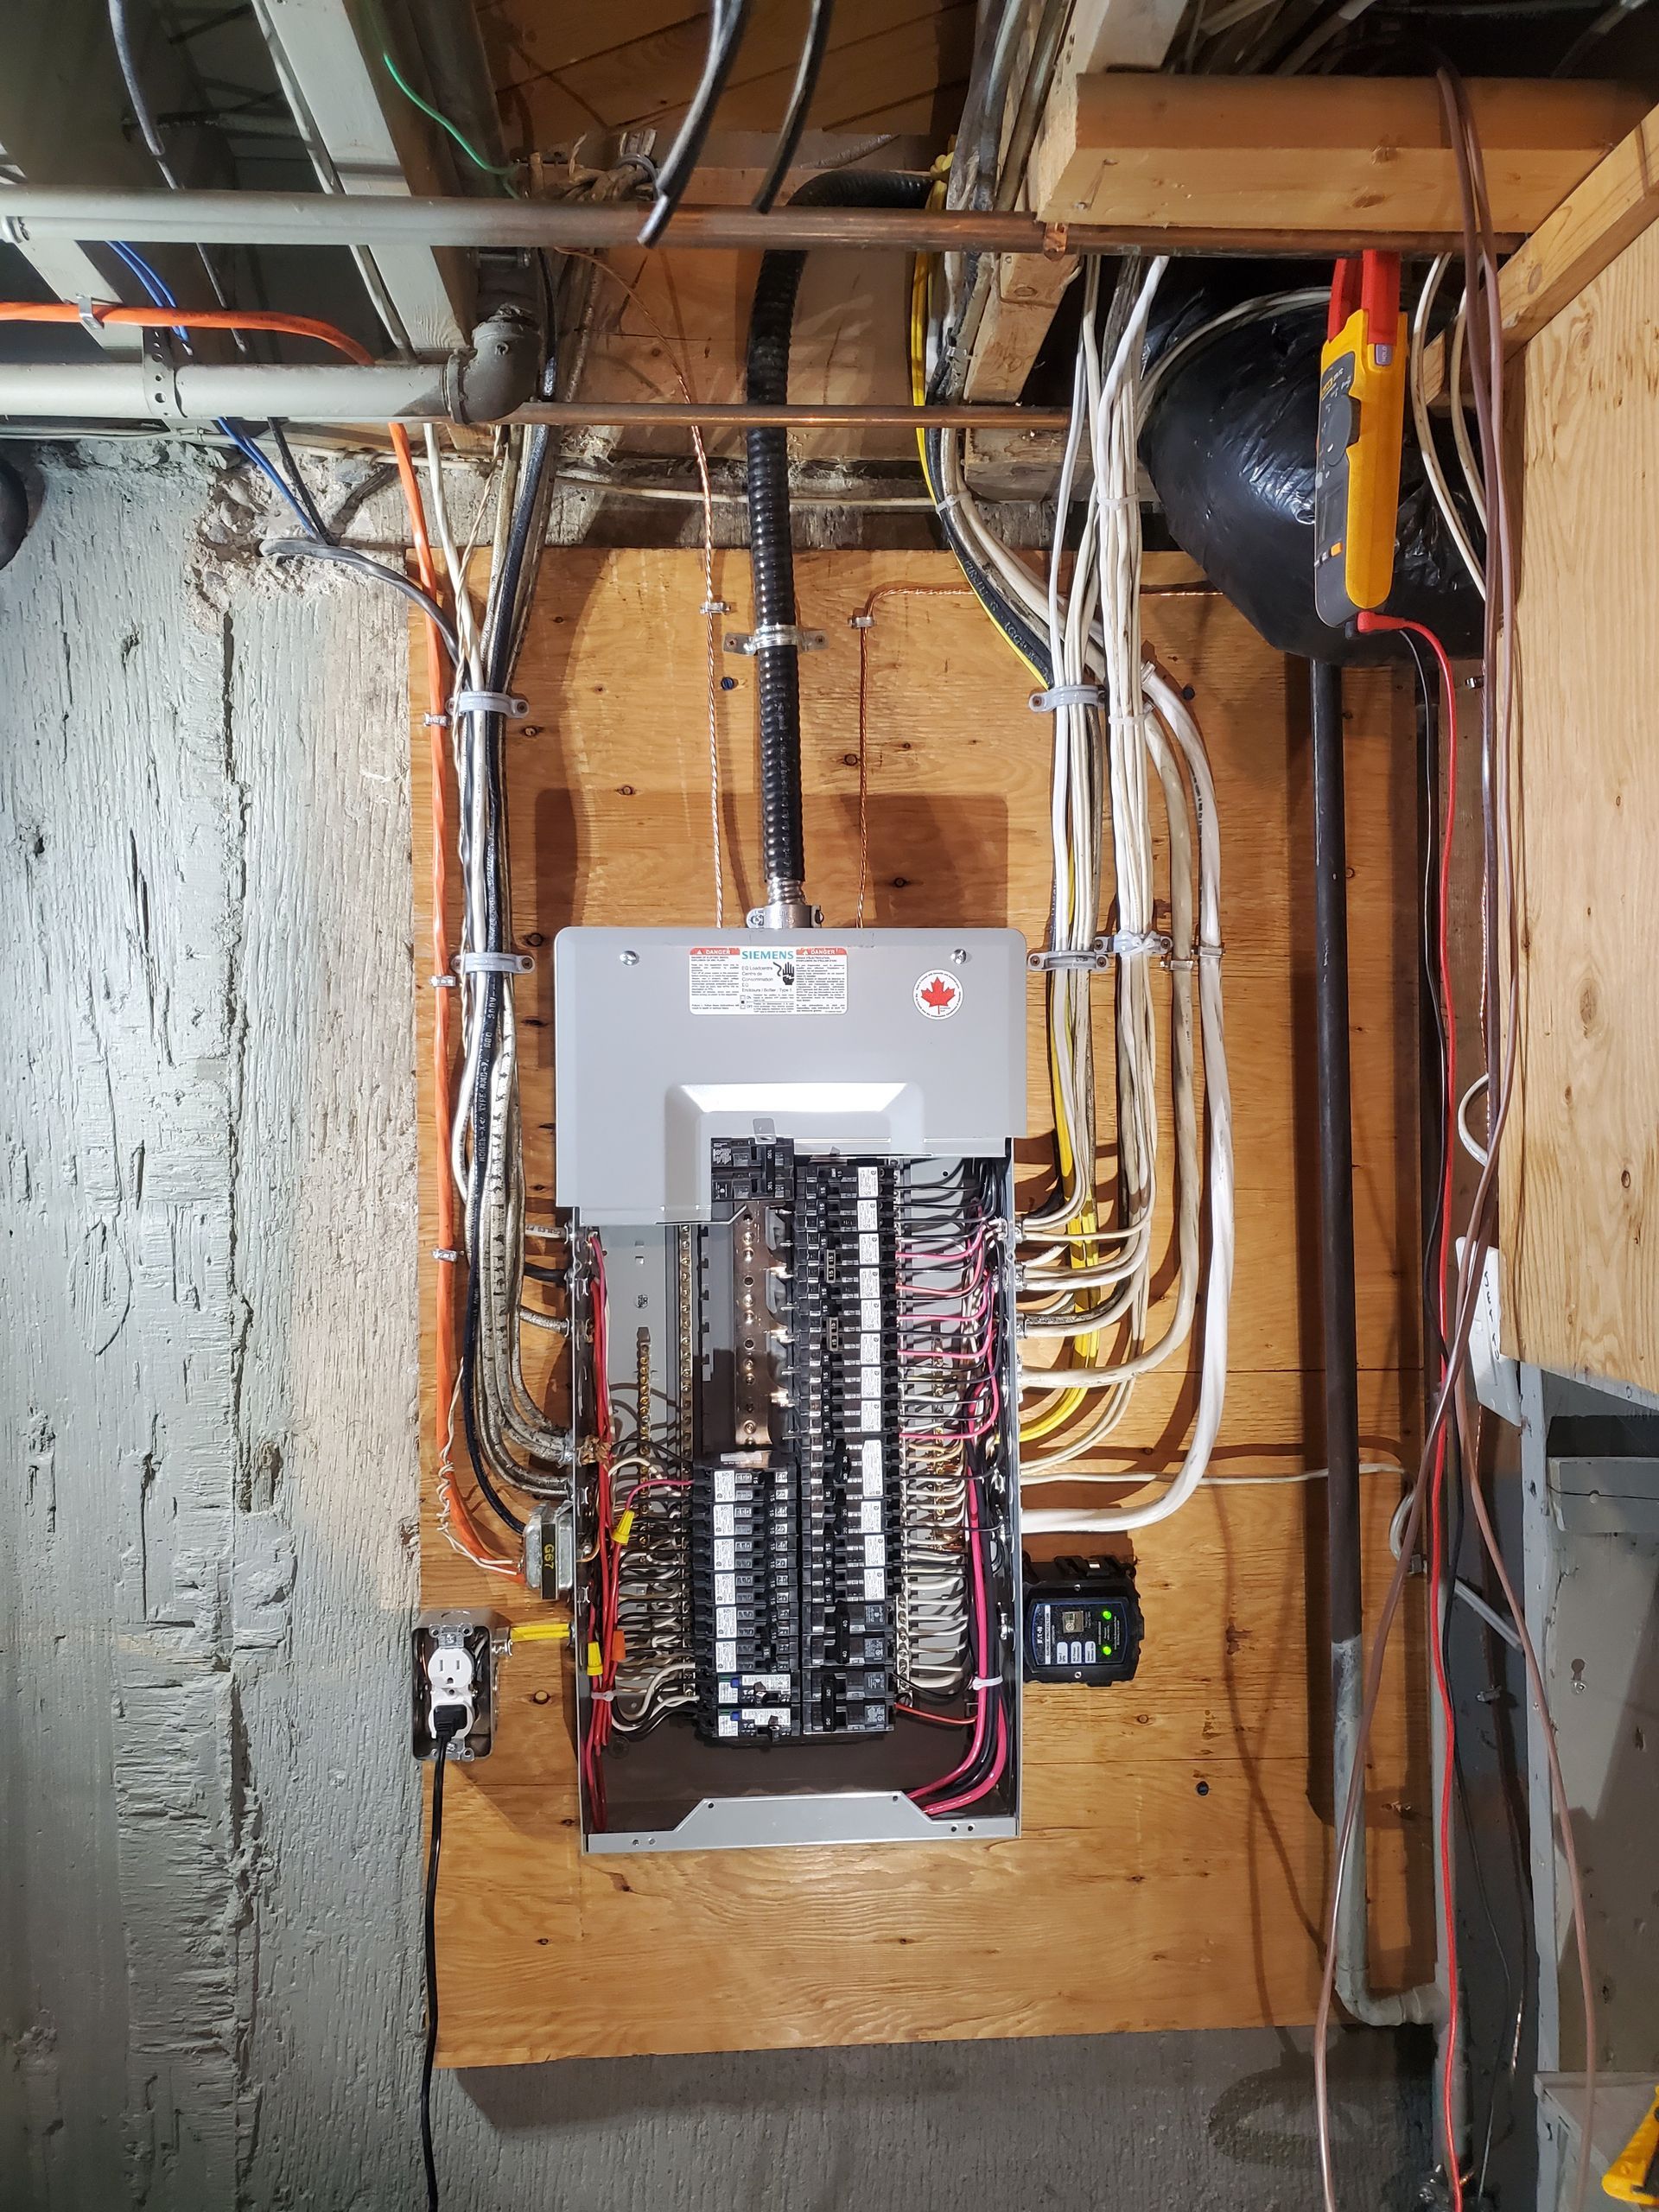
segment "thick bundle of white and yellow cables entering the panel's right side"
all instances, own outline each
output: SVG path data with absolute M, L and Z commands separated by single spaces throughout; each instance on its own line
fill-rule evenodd
M 989 526 L 962 467 L 962 438 L 933 431 L 925 445 L 929 489 L 962 571 L 1051 690 L 1053 710 L 1053 905 L 1048 1066 L 1055 1102 L 1057 1183 L 1020 1223 L 1020 1334 L 1075 1347 L 1060 1367 L 1022 1367 L 1026 1411 L 1022 1482 L 1113 1482 L 1077 1462 L 1121 1422 L 1137 1376 L 1190 1338 L 1199 1312 L 1203 1212 L 1210 1265 L 1203 1290 L 1199 1413 L 1186 1460 L 1168 1489 L 1106 1511 L 1026 1515 L 1042 1528 L 1137 1528 L 1175 1513 L 1197 1489 L 1221 1425 L 1232 1296 L 1232 1108 L 1221 1020 L 1221 845 L 1203 741 L 1179 690 L 1141 655 L 1141 533 L 1137 493 L 1139 363 L 1164 261 L 1126 263 L 1102 316 L 1099 263 L 1084 279 L 1073 372 L 1073 411 L 1060 476 L 1055 540 L 1037 580 Z M 914 319 L 916 378 L 925 281 Z M 1088 453 L 1082 535 L 1068 591 L 1062 540 Z M 1168 827 L 1168 933 L 1157 931 L 1155 801 Z M 1095 1175 L 1095 1046 L 1091 982 L 1099 931 L 1104 841 L 1110 838 L 1117 929 L 1117 1188 Z M 1159 1048 L 1152 962 L 1166 958 L 1170 991 L 1168 1073 L 1175 1119 L 1177 1276 L 1164 1329 L 1152 1321 L 1152 1225 L 1159 1159 Z M 1208 1104 L 1208 1159 L 1194 1075 L 1192 978 L 1197 978 Z M 1108 1332 L 1117 1347 L 1102 1356 Z M 1102 1394 L 1093 1402 L 1093 1394 Z M 1082 1416 L 1082 1418 L 1079 1418 Z

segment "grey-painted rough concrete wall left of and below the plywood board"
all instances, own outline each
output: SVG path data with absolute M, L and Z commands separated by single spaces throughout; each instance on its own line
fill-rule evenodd
M 9 2212 L 418 2201 L 405 624 L 259 522 L 84 449 L 0 575 Z M 1336 2070 L 1407 2205 L 1416 2057 Z M 1267 2033 L 469 2075 L 438 2148 L 467 2212 L 1314 2201 Z

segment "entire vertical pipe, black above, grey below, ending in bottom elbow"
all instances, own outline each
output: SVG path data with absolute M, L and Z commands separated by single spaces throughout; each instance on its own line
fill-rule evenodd
M 1314 1037 L 1318 1064 L 1318 1259 L 1325 1312 L 1325 1511 L 1332 1588 L 1332 1803 L 1340 1834 L 1360 1745 L 1365 1637 L 1360 1582 L 1360 1407 L 1354 1314 L 1354 1102 L 1347 1055 L 1347 825 L 1343 818 L 1343 670 L 1312 664 L 1314 737 Z M 1436 1792 L 1436 1805 L 1438 1805 Z M 1365 1891 L 1365 1790 L 1349 1836 L 1336 1918 L 1336 1995 L 1367 2028 L 1438 2020 L 1429 1982 L 1371 1991 Z

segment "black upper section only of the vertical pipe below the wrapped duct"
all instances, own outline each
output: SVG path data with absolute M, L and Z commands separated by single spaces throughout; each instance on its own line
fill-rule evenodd
M 1343 670 L 1334 661 L 1312 664 L 1312 734 L 1318 1261 L 1325 1310 L 1325 1464 L 1329 1467 L 1325 1498 L 1336 1650 L 1360 1635 L 1360 1380 L 1354 1314 L 1354 1099 L 1347 1057 Z

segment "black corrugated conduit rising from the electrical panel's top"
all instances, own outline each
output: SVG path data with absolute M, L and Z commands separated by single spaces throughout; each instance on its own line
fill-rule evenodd
M 931 177 L 843 168 L 807 177 L 792 208 L 925 208 Z M 790 398 L 790 334 L 801 292 L 803 252 L 761 259 L 750 310 L 748 398 L 781 407 Z M 805 896 L 801 838 L 801 664 L 790 544 L 790 434 L 748 434 L 750 564 L 754 571 L 754 650 L 761 695 L 761 841 L 765 854 L 768 929 L 805 929 L 814 914 Z M 1310 557 L 1312 566 L 1312 557 Z

